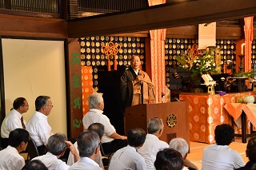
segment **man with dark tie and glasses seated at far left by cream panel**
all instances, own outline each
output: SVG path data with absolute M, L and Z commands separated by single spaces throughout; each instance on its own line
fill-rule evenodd
M 2 148 L 6 148 L 8 146 L 8 138 L 11 131 L 15 128 L 26 128 L 26 121 L 23 120 L 22 114 L 26 113 L 28 109 L 29 104 L 24 97 L 18 97 L 14 100 L 13 108 L 2 121 Z

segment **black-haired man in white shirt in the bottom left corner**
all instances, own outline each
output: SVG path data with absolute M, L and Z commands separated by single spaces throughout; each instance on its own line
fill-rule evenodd
M 20 170 L 24 167 L 25 160 L 19 152 L 26 150 L 29 138 L 29 132 L 23 128 L 16 128 L 10 132 L 9 145 L 0 151 L 1 170 Z

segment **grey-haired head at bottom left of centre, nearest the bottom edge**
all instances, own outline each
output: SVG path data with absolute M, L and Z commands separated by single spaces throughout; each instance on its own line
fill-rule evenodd
M 80 157 L 98 156 L 100 140 L 96 132 L 86 130 L 80 133 L 77 142 Z

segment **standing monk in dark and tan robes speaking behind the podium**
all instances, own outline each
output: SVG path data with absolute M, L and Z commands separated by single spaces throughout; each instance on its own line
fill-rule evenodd
M 130 67 L 121 76 L 121 96 L 124 108 L 138 104 L 155 103 L 154 85 L 146 72 L 139 69 L 140 58 L 130 59 Z

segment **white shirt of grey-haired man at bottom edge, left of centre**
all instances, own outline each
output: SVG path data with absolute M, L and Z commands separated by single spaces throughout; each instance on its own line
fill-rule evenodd
M 80 157 L 78 162 L 72 164 L 69 170 L 102 170 L 98 164 L 89 157 Z

